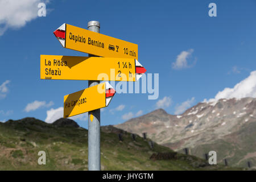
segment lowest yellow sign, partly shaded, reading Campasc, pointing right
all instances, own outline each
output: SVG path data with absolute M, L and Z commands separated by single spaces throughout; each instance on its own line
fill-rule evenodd
M 109 105 L 115 90 L 108 82 L 64 96 L 64 118 Z

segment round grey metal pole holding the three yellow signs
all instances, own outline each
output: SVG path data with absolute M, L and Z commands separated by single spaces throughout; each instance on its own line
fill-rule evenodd
M 100 33 L 100 22 L 88 22 L 88 30 Z M 88 56 L 94 56 L 88 54 Z M 100 81 L 88 80 L 88 88 L 98 85 Z M 101 110 L 96 109 L 88 113 L 88 170 L 101 170 L 101 145 L 100 145 Z

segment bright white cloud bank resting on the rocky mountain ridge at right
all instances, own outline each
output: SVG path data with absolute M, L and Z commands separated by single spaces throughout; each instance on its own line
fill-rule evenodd
M 243 98 L 256 97 L 256 71 L 250 73 L 250 76 L 236 84 L 233 88 L 225 88 L 218 92 L 214 98 L 204 100 L 204 102 L 214 102 L 221 98 Z

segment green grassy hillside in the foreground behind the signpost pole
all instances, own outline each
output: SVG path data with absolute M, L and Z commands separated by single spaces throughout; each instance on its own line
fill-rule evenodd
M 38 164 L 40 150 L 46 151 L 46 165 Z M 204 160 L 183 154 L 172 160 L 150 160 L 157 152 L 173 151 L 158 144 L 151 150 L 147 141 L 137 136 L 134 142 L 130 133 L 123 134 L 123 142 L 119 142 L 117 134 L 101 132 L 102 170 L 235 169 L 205 166 Z M 85 129 L 57 127 L 39 120 L 0 123 L 0 170 L 87 170 L 87 164 Z

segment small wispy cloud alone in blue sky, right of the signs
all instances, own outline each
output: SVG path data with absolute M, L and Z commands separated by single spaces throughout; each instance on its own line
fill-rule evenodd
M 188 65 L 187 59 L 193 53 L 193 49 L 189 49 L 188 51 L 182 51 L 179 55 L 177 55 L 177 59 L 175 63 L 172 63 L 173 69 L 182 69 L 191 67 Z

